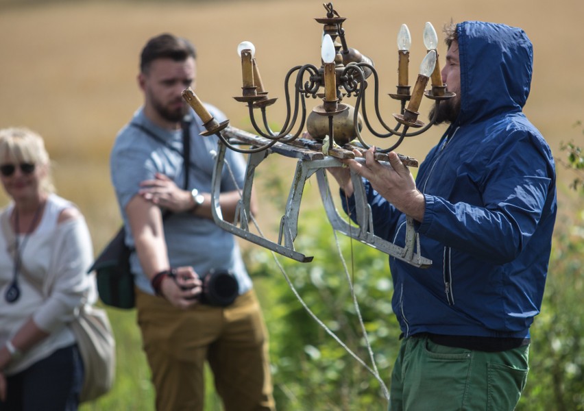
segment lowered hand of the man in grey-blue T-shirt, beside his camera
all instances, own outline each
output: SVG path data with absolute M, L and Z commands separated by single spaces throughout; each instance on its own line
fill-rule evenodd
M 175 307 L 186 309 L 199 303 L 202 282 L 193 267 L 179 267 L 176 275 L 167 275 L 160 284 L 162 295 Z

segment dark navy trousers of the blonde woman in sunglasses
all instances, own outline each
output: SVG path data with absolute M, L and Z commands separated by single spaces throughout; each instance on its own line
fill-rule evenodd
M 8 395 L 0 411 L 75 411 L 83 385 L 77 344 L 58 349 L 20 373 L 6 377 Z

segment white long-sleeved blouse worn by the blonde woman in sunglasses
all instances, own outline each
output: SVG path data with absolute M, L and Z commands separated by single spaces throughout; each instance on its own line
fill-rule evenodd
M 86 272 L 93 261 L 93 245 L 83 216 L 58 224 L 60 212 L 73 203 L 49 195 L 38 227 L 28 235 L 21 254 L 18 274 L 20 298 L 5 300 L 12 284 L 14 260 L 8 253 L 7 239 L 0 232 L 0 347 L 32 317 L 47 338 L 8 364 L 4 373 L 23 371 L 57 349 L 75 342 L 68 324 L 75 318 L 84 297 L 94 300 L 95 277 Z M 1 213 L 12 212 L 11 203 Z M 23 244 L 25 234 L 19 235 Z

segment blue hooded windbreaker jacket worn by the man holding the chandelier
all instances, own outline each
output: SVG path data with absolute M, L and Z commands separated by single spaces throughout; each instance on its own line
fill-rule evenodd
M 418 269 L 389 258 L 405 336 L 528 338 L 544 294 L 557 211 L 555 165 L 522 108 L 533 50 L 521 30 L 457 25 L 461 112 L 421 164 Z M 375 234 L 404 246 L 406 217 L 365 181 Z

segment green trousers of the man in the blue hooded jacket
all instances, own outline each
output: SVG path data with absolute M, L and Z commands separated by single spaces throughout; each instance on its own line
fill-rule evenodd
M 525 386 L 529 346 L 500 352 L 402 340 L 391 373 L 390 411 L 513 410 Z

